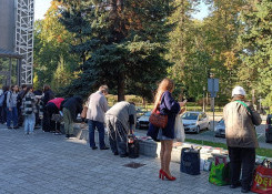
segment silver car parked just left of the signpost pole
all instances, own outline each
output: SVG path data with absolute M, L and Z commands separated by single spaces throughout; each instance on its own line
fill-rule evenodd
M 185 112 L 182 116 L 185 132 L 200 133 L 201 130 L 210 129 L 210 120 L 204 112 Z

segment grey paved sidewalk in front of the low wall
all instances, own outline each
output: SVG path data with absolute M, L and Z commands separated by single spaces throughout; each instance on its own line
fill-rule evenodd
M 210 184 L 206 172 L 198 176 L 180 173 L 177 163 L 171 163 L 177 181 L 161 181 L 158 159 L 121 159 L 110 151 L 92 151 L 84 141 L 66 140 L 64 135 L 41 130 L 23 135 L 22 129 L 0 125 L 0 194 L 240 193 L 240 188 Z M 123 166 L 130 162 L 145 165 Z

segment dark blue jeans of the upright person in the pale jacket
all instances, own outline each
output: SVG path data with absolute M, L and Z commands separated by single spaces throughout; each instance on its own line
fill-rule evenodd
M 88 124 L 89 124 L 90 147 L 95 146 L 95 142 L 94 142 L 94 130 L 95 130 L 95 127 L 98 129 L 98 133 L 99 133 L 99 147 L 100 149 L 105 147 L 105 144 L 104 144 L 104 124 L 102 122 L 93 121 L 93 120 L 89 120 Z

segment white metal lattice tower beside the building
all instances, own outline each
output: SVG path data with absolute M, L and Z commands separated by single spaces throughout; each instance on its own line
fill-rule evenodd
M 16 51 L 23 55 L 20 83 L 32 84 L 34 0 L 16 0 Z

